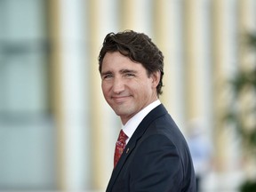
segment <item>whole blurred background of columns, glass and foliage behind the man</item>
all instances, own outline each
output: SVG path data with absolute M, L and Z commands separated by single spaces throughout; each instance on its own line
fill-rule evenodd
M 121 123 L 98 55 L 124 29 L 164 52 L 201 191 L 255 192 L 255 0 L 0 0 L 0 191 L 105 191 Z

